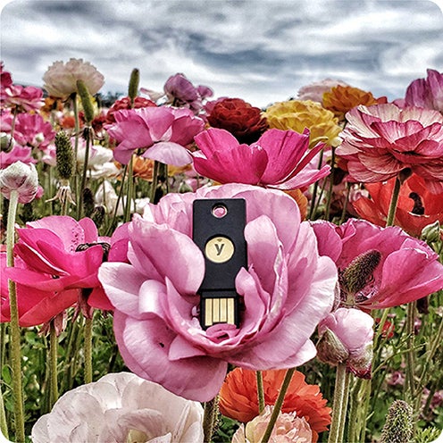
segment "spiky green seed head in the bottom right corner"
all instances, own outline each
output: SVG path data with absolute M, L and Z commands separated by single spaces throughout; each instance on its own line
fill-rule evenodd
M 381 431 L 380 443 L 407 443 L 413 440 L 413 408 L 403 400 L 389 406 L 386 423 Z

